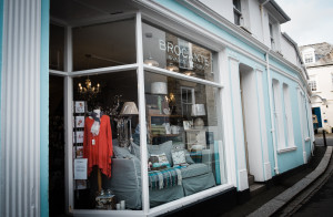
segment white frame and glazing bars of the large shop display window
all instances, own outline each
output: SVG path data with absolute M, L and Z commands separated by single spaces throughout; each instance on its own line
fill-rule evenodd
M 172 22 L 170 25 L 167 19 L 159 17 L 157 19 L 155 16 L 142 12 L 133 12 L 133 13 L 125 13 L 123 16 L 119 16 L 117 20 L 123 20 L 124 18 L 134 18 L 135 20 L 135 42 L 137 42 L 137 63 L 133 64 L 125 64 L 125 65 L 118 65 L 118 66 L 108 66 L 108 68 L 101 68 L 101 69 L 92 69 L 92 70 L 82 70 L 82 71 L 75 71 L 73 72 L 73 62 L 72 62 L 72 28 L 73 27 L 67 27 L 65 28 L 65 48 L 64 48 L 64 71 L 57 71 L 57 70 L 49 70 L 50 74 L 63 76 L 64 78 L 64 136 L 65 136 L 65 211 L 68 214 L 72 215 L 95 215 L 97 210 L 85 210 L 85 209 L 74 209 L 74 183 L 73 183 L 73 159 L 72 159 L 72 152 L 73 152 L 73 114 L 72 114 L 72 103 L 73 103 L 73 79 L 79 76 L 85 76 L 85 75 L 97 75 L 97 74 L 103 74 L 103 73 L 115 73 L 121 71 L 130 71 L 130 70 L 137 70 L 137 79 L 138 79 L 138 104 L 139 104 L 139 118 L 142 120 L 140 122 L 140 143 L 142 144 L 140 146 L 141 148 L 141 158 L 147 158 L 147 128 L 145 128 L 145 95 L 144 95 L 144 73 L 145 72 L 152 72 L 158 74 L 163 74 L 165 76 L 172 76 L 175 79 L 182 79 L 190 82 L 195 82 L 213 87 L 218 87 L 218 107 L 221 110 L 218 110 L 218 115 L 222 114 L 222 81 L 221 81 L 221 66 L 214 68 L 216 72 L 215 74 L 215 82 L 193 78 L 193 76 L 186 76 L 184 74 L 180 74 L 176 72 L 170 72 L 164 69 L 150 66 L 143 63 L 143 42 L 142 42 L 142 23 L 143 19 L 148 20 L 151 23 L 155 23 L 157 25 L 169 29 L 170 32 L 174 33 L 182 33 L 184 34 L 184 38 L 190 38 L 192 41 L 196 41 L 199 44 L 204 45 L 206 48 L 215 48 L 213 43 L 213 39 L 211 39 L 211 42 L 208 42 L 206 40 L 202 40 L 200 35 L 190 35 L 186 34 L 183 28 L 175 28 L 175 24 Z M 112 20 L 112 21 L 117 21 Z M 111 20 L 110 20 L 111 21 Z M 89 21 L 89 24 L 98 24 L 100 22 L 105 22 L 105 20 L 93 20 Z M 168 23 L 168 24 L 167 24 Z M 82 24 L 84 25 L 84 24 Z M 186 27 L 189 28 L 189 27 Z M 190 28 L 189 28 L 190 29 Z M 180 34 L 180 35 L 182 35 Z M 194 39 L 193 39 L 194 38 Z M 213 50 L 210 49 L 213 52 L 216 52 L 216 59 L 220 60 L 223 52 L 220 50 Z M 215 63 L 214 63 L 215 64 Z M 222 116 L 221 116 L 222 118 Z M 223 128 L 223 122 L 221 122 L 221 127 Z M 221 128 L 221 132 L 223 130 Z M 231 172 L 231 167 L 225 164 L 232 163 L 228 154 L 223 154 L 224 152 L 228 152 L 228 147 L 224 147 L 223 149 L 222 145 L 224 144 L 224 136 L 221 136 L 222 141 L 219 143 L 219 151 L 220 151 L 220 169 L 221 169 L 221 180 L 225 180 L 225 184 L 221 184 L 219 186 L 215 186 L 210 189 L 205 189 L 202 192 L 199 192 L 194 195 L 186 196 L 183 198 L 180 198 L 178 200 L 164 204 L 163 206 L 158 206 L 154 208 L 150 208 L 149 203 L 149 185 L 148 185 L 148 165 L 144 163 L 144 161 L 141 162 L 141 185 L 142 185 L 142 210 L 117 210 L 117 211 L 110 211 L 110 210 L 99 210 L 98 214 L 103 215 L 120 215 L 120 216 L 147 216 L 147 215 L 158 215 L 163 214 L 173 209 L 176 209 L 179 207 L 185 206 L 190 203 L 198 202 L 198 198 L 205 198 L 210 197 L 219 192 L 223 192 L 225 189 L 229 189 L 233 187 L 235 184 L 232 183 L 234 180 L 234 177 L 231 176 L 233 174 Z M 226 177 L 222 177 L 224 175 L 223 168 L 226 167 L 225 175 Z M 226 179 L 225 179 L 226 178 Z

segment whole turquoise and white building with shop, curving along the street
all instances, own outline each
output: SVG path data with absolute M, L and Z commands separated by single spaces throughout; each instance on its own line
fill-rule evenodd
M 307 74 L 274 0 L 0 10 L 3 216 L 218 214 L 311 156 Z

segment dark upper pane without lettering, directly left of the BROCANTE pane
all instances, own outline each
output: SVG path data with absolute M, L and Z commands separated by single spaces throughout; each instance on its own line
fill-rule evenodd
M 89 70 L 137 62 L 134 20 L 74 28 L 73 70 Z

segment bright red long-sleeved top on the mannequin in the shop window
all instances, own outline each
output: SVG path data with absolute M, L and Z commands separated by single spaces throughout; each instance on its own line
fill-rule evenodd
M 98 135 L 91 133 L 94 122 L 95 120 L 91 117 L 85 117 L 84 121 L 83 157 L 88 158 L 88 176 L 90 176 L 92 167 L 98 166 L 102 174 L 110 178 L 113 153 L 110 117 L 101 116 Z

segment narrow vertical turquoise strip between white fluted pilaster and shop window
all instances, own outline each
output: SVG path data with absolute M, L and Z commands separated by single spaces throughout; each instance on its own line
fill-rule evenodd
M 40 216 L 49 216 L 49 28 L 50 0 L 41 0 Z

